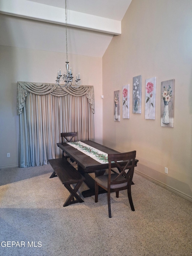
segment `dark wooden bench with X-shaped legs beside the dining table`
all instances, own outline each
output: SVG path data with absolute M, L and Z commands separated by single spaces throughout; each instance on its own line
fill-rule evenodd
M 49 178 L 58 176 L 62 184 L 70 192 L 70 196 L 67 198 L 63 206 L 68 206 L 72 203 L 84 202 L 77 194 L 77 191 L 85 178 L 65 158 L 49 159 L 48 161 L 54 170 Z M 72 188 L 70 186 L 71 184 L 76 185 Z M 74 200 L 74 197 L 76 200 Z

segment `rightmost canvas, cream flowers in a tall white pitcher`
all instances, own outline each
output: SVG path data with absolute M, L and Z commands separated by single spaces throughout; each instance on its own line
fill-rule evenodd
M 174 125 L 175 79 L 161 82 L 161 126 Z

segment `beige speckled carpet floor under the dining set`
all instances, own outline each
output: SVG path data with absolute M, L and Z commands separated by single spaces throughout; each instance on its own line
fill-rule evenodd
M 0 170 L 1 256 L 192 255 L 191 202 L 135 173 L 135 211 L 126 191 L 112 193 L 109 218 L 107 194 L 63 207 L 69 192 L 52 171 Z

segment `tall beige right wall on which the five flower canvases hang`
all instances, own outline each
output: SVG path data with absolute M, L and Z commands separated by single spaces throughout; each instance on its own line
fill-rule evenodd
M 142 75 L 142 113 L 132 113 L 133 77 Z M 157 77 L 156 117 L 145 119 L 145 80 Z M 161 127 L 161 82 L 175 79 L 174 127 Z M 130 119 L 113 121 L 113 93 L 130 84 Z M 122 35 L 103 56 L 103 143 L 137 150 L 138 170 L 192 200 L 192 2 L 132 0 Z M 122 95 L 121 95 L 122 97 Z M 168 174 L 164 173 L 168 167 Z

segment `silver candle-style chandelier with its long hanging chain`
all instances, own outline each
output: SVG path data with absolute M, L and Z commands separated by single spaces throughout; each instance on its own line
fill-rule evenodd
M 67 5 L 66 5 L 66 0 L 65 0 L 65 31 L 66 31 L 66 54 L 67 54 L 67 8 L 66 8 L 66 6 Z M 60 86 L 60 87 L 66 86 L 66 88 L 68 88 L 68 86 L 71 86 L 73 88 L 78 88 L 81 85 L 80 73 L 78 74 L 78 77 L 77 77 L 77 74 L 76 74 L 75 85 L 72 85 L 73 71 L 71 70 L 71 67 L 70 67 L 70 70 L 69 70 L 68 58 L 67 58 L 67 61 L 65 63 L 66 63 L 66 70 L 67 71 L 64 72 L 62 75 L 61 75 L 61 68 L 60 68 L 59 71 L 57 71 L 57 80 L 56 80 L 55 85 Z M 64 81 L 65 84 L 60 85 L 59 83 L 61 81 Z

